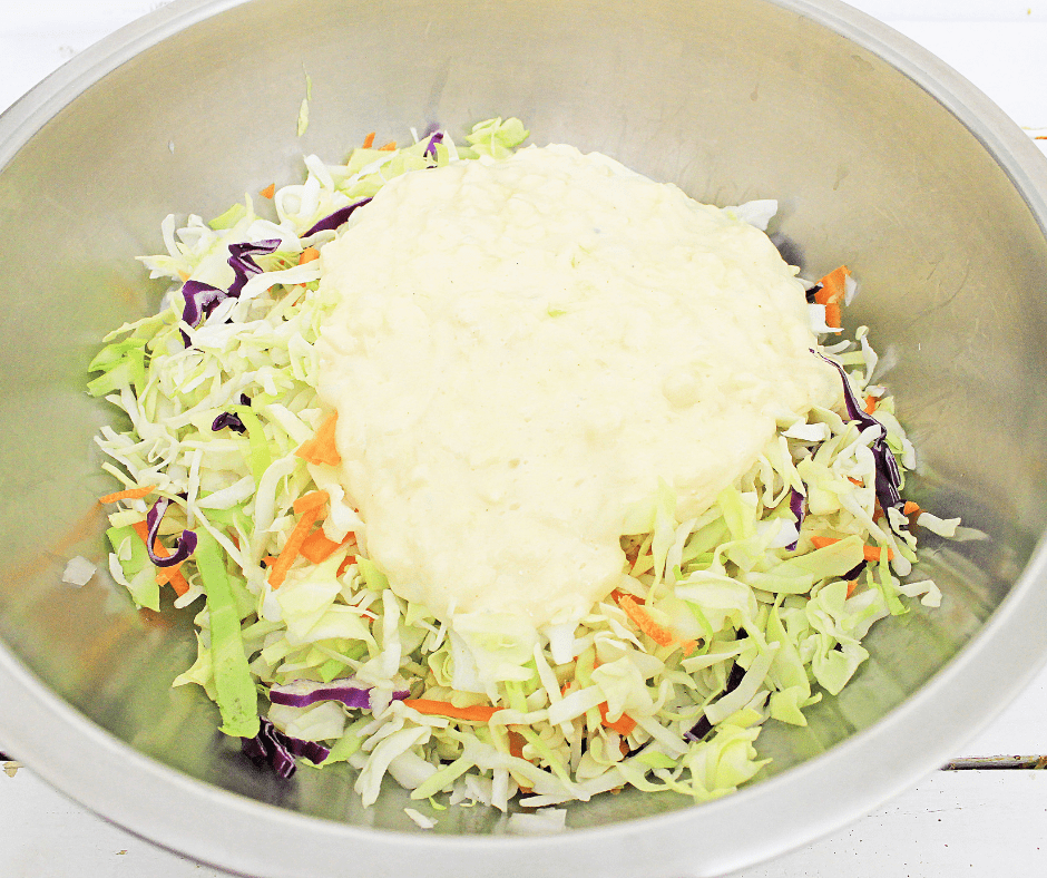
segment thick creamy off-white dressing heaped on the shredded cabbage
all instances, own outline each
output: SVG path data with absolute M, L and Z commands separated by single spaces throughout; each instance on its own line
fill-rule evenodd
M 659 479 L 697 516 L 839 398 L 769 238 L 599 154 L 405 174 L 322 260 L 340 477 L 391 588 L 440 618 L 580 618 Z

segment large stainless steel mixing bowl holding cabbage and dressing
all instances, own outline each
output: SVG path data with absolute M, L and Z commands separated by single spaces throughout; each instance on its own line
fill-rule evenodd
M 311 124 L 295 134 L 312 78 Z M 921 451 L 909 494 L 982 542 L 928 540 L 946 598 L 882 623 L 810 728 L 769 726 L 764 779 L 694 807 L 577 804 L 506 835 L 424 833 L 342 770 L 254 771 L 197 693 L 187 620 L 134 612 L 105 558 L 88 399 L 99 338 L 156 306 L 134 261 L 168 212 L 213 215 L 366 131 L 517 115 L 718 203 L 776 197 L 808 272 L 861 279 Z M 841 826 L 955 753 L 1044 658 L 1047 163 L 945 65 L 834 0 L 182 0 L 75 58 L 0 118 L 0 743 L 169 848 L 265 876 L 698 876 Z

